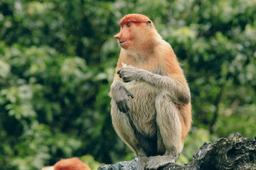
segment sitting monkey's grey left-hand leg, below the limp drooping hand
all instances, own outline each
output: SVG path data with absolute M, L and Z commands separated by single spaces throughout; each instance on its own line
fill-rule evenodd
M 124 143 L 132 149 L 132 151 L 137 154 L 138 157 L 138 170 L 144 170 L 146 162 L 149 160 L 146 157 L 145 152 L 142 148 L 139 148 L 139 142 L 137 137 L 134 135 L 134 130 L 132 129 L 131 124 L 129 123 L 129 118 L 125 113 L 122 113 L 117 108 L 117 104 L 114 101 L 111 101 L 111 115 L 112 115 L 112 124 L 114 130 L 117 132 L 117 135 L 124 141 Z

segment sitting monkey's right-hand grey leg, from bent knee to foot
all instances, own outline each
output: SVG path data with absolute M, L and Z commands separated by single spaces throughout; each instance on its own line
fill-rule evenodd
M 158 169 L 165 164 L 176 162 L 179 152 L 183 149 L 178 108 L 164 92 L 156 96 L 156 123 L 161 135 L 159 147 L 164 145 L 166 152 L 164 155 L 149 157 L 146 169 Z

